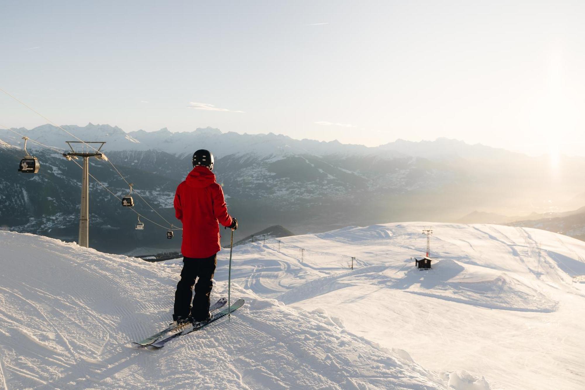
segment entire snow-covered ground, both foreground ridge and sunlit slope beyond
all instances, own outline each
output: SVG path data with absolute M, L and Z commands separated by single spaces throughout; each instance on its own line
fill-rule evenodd
M 431 256 L 439 259 L 418 271 L 411 257 L 424 253 L 421 231 L 429 225 Z M 280 252 L 276 240 L 234 249 L 232 298 L 246 305 L 230 322 L 150 351 L 130 342 L 170 320 L 180 259 L 146 263 L 0 232 L 1 383 L 583 388 L 585 283 L 575 280 L 585 275 L 585 242 L 529 228 L 438 223 L 279 240 Z M 227 295 L 228 253 L 218 257 L 214 298 Z

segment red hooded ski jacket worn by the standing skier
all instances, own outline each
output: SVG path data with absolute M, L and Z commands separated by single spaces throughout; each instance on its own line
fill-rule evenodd
M 177 187 L 175 215 L 183 223 L 183 256 L 206 258 L 221 249 L 219 223 L 232 224 L 221 186 L 204 166 L 196 166 Z

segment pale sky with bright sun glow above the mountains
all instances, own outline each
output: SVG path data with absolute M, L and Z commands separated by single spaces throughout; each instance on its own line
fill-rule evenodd
M 58 124 L 585 156 L 583 1 L 6 1 L 0 87 Z M 47 121 L 0 94 L 0 124 Z

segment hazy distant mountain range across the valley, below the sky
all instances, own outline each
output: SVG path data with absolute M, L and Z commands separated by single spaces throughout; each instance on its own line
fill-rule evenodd
M 389 221 L 456 221 L 473 210 L 500 215 L 543 213 L 551 206 L 569 210 L 583 206 L 579 194 L 585 193 L 579 178 L 585 159 L 563 159 L 562 170 L 554 172 L 544 157 L 445 138 L 368 148 L 214 128 L 126 133 L 109 125 L 63 127 L 84 141 L 105 141 L 108 158 L 168 223 L 139 199 L 136 210 L 164 226 L 180 225 L 172 201 L 177 184 L 191 170 L 192 152 L 212 150 L 230 213 L 240 221 L 236 240 L 272 225 L 303 234 Z M 52 125 L 15 130 L 63 150 L 65 141 L 74 140 Z M 18 173 L 22 139 L 0 130 L 0 140 L 5 167 L 0 227 L 76 241 L 80 169 L 60 153 L 29 142 L 40 172 Z M 90 172 L 119 196 L 128 193 L 108 163 L 94 159 Z M 91 247 L 110 252 L 179 247 L 180 234 L 166 240 L 165 229 L 149 221 L 144 231 L 136 231 L 136 215 L 90 181 Z

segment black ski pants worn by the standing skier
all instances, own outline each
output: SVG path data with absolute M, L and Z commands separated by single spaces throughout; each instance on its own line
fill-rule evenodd
M 191 316 L 195 321 L 207 319 L 209 295 L 214 287 L 212 279 L 216 265 L 217 254 L 203 259 L 183 258 L 181 280 L 177 283 L 177 291 L 175 292 L 174 319 L 177 319 L 177 316 L 183 318 Z M 195 279 L 197 279 L 197 283 L 195 283 Z M 193 297 L 194 285 L 195 297 Z

